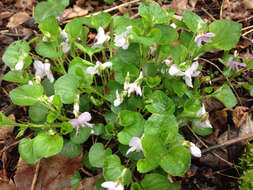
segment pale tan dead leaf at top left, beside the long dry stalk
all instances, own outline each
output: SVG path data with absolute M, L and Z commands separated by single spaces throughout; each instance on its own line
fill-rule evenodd
M 73 8 L 68 8 L 65 11 L 63 11 L 62 14 L 57 16 L 57 20 L 59 22 L 63 22 L 65 20 L 69 20 L 69 19 L 72 19 L 72 18 L 85 16 L 88 13 L 89 13 L 89 11 L 87 9 L 82 9 L 82 8 L 74 5 Z

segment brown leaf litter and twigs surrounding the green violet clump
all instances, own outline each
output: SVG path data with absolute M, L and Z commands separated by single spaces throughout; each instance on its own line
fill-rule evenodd
M 104 3 L 102 0 L 71 0 L 70 6 L 65 11 L 65 21 L 75 17 L 86 16 L 102 10 L 107 10 L 112 15 L 123 15 L 128 13 L 130 17 L 137 18 L 137 7 L 139 2 L 131 3 L 128 0 L 115 0 L 112 5 Z M 240 54 L 240 58 L 253 59 L 253 1 L 245 0 L 158 0 L 164 9 L 173 8 L 178 16 L 186 9 L 190 9 L 198 14 L 205 22 L 210 23 L 216 19 L 231 19 L 243 25 L 242 34 L 235 50 Z M 29 40 L 38 35 L 37 24 L 33 22 L 32 14 L 38 0 L 2 0 L 0 1 L 0 111 L 13 120 L 26 118 L 27 107 L 13 105 L 9 98 L 9 92 L 17 85 L 2 80 L 3 74 L 8 71 L 1 57 L 6 48 L 15 40 Z M 122 6 L 123 5 L 123 6 Z M 126 5 L 126 6 L 125 6 Z M 90 33 L 89 38 L 94 39 L 95 34 Z M 222 52 L 213 52 L 205 55 L 207 60 L 215 60 Z M 205 67 L 206 72 L 214 73 L 217 68 L 209 65 Z M 249 71 L 244 80 L 250 80 L 253 71 Z M 217 85 L 225 78 L 217 75 L 213 82 Z M 198 145 L 207 152 L 200 159 L 193 159 L 190 169 L 181 177 L 183 190 L 231 190 L 238 187 L 240 173 L 234 164 L 238 164 L 244 148 L 243 140 L 247 133 L 253 131 L 253 122 L 247 122 L 248 115 L 253 111 L 253 98 L 244 89 L 235 89 L 240 105 L 234 109 L 225 109 L 218 101 L 207 102 L 207 111 L 214 127 L 214 133 L 208 137 L 195 137 L 190 128 L 183 129 L 188 139 L 194 139 Z M 245 124 L 246 122 L 246 124 Z M 239 133 L 237 126 L 241 124 L 252 128 L 243 133 Z M 249 130 L 249 131 L 248 131 Z M 251 131 L 252 130 L 252 131 Z M 73 174 L 74 170 L 79 170 L 84 176 L 84 180 L 77 189 L 95 189 L 94 181 L 101 175 L 93 175 L 92 172 L 83 168 L 81 158 L 66 159 L 61 156 L 54 156 L 47 161 L 41 161 L 38 165 L 27 165 L 18 154 L 18 142 L 16 138 L 17 129 L 15 127 L 0 128 L 0 189 L 71 189 L 61 186 Z M 26 133 L 32 136 L 32 132 Z M 236 139 L 231 142 L 231 139 Z M 216 144 L 231 143 L 230 146 L 221 146 L 209 150 Z M 203 145 L 204 144 L 204 145 Z M 206 146 L 206 147 L 205 147 Z M 74 167 L 73 167 L 74 166 Z M 38 170 L 40 167 L 40 170 Z M 101 173 L 101 171 L 100 171 Z M 57 174 L 57 177 L 53 177 Z M 33 186 L 27 186 L 33 182 Z M 40 183 L 35 188 L 35 183 Z M 50 184 L 50 185 L 49 185 Z M 53 184 L 53 185 L 52 185 Z M 24 188 L 26 187 L 26 188 Z

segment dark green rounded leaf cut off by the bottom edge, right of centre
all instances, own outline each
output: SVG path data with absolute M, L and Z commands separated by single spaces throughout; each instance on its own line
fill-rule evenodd
M 174 186 L 167 177 L 157 173 L 145 175 L 141 185 L 145 190 L 165 190 L 172 189 Z

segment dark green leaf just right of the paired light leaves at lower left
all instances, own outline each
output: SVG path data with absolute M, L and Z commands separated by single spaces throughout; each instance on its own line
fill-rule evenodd
M 64 139 L 64 144 L 61 150 L 61 154 L 68 158 L 75 158 L 82 152 L 82 146 L 80 144 L 74 144 L 70 140 Z

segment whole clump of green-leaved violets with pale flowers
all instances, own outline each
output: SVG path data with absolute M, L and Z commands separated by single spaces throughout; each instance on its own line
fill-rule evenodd
M 66 6 L 68 0 L 39 3 L 34 18 L 41 36 L 15 41 L 4 53 L 10 71 L 3 79 L 19 84 L 11 101 L 29 106 L 30 119 L 14 122 L 0 113 L 0 125 L 19 127 L 19 137 L 34 130 L 34 137 L 18 146 L 30 164 L 58 153 L 76 157 L 92 136 L 83 163 L 103 169 L 97 189 L 176 188 L 170 176 L 184 175 L 191 154 L 201 156 L 180 127 L 191 123 L 197 134 L 211 134 L 201 101 L 212 97 L 226 107 L 237 104 L 230 83 L 210 86 L 199 56 L 224 50 L 222 74 L 228 82 L 240 75 L 252 65 L 229 54 L 241 24 L 216 20 L 208 26 L 189 10 L 179 20 L 174 10 L 144 1 L 140 18 L 102 12 L 73 19 L 62 29 L 55 16 Z M 97 31 L 93 44 L 87 41 L 90 30 Z M 238 85 L 252 89 L 250 83 Z M 73 187 L 79 177 L 73 176 Z

